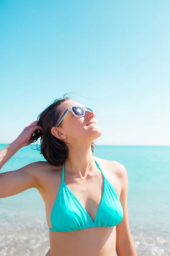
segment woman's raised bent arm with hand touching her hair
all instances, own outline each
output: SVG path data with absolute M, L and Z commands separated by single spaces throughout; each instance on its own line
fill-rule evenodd
M 30 137 L 36 130 L 41 130 L 41 127 L 37 125 L 37 121 L 34 121 L 22 131 L 16 140 L 0 151 L 0 169 L 20 148 L 31 144 Z M 37 188 L 39 183 L 36 170 L 40 168 L 40 162 L 30 163 L 14 171 L 0 173 L 0 198 L 16 195 L 33 187 Z

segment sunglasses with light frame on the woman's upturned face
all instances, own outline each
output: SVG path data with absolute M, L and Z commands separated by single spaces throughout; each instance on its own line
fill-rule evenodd
M 91 108 L 84 108 L 84 107 L 78 107 L 78 106 L 71 106 L 71 107 L 69 107 L 62 114 L 62 116 L 59 117 L 56 126 L 59 126 L 59 124 L 61 123 L 62 119 L 65 117 L 66 113 L 68 113 L 68 111 L 71 111 L 71 113 L 73 113 L 74 116 L 82 117 L 82 116 L 85 116 L 85 109 L 87 109 L 88 111 L 94 112 Z

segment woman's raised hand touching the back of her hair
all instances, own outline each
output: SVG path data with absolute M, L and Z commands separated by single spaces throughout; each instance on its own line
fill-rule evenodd
M 17 143 L 19 143 L 23 147 L 33 143 L 34 141 L 30 142 L 30 138 L 32 134 L 34 134 L 36 130 L 42 131 L 42 127 L 37 124 L 38 124 L 38 121 L 34 121 L 34 122 L 31 122 L 30 125 L 27 125 L 26 128 L 24 128 L 22 133 L 17 137 L 15 141 L 17 141 Z

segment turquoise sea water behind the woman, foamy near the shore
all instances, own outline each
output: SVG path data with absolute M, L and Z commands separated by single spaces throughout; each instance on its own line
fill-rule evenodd
M 170 147 L 96 146 L 94 155 L 116 160 L 127 169 L 129 224 L 137 255 L 170 256 Z M 38 160 L 45 159 L 36 145 L 30 145 L 0 172 Z M 45 206 L 37 190 L 0 199 L 0 255 L 44 256 L 48 249 Z

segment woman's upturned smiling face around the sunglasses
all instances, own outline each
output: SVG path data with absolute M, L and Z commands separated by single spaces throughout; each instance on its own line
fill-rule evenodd
M 78 102 L 66 100 L 59 106 L 59 110 L 61 111 L 60 116 L 71 106 L 82 107 Z M 92 143 L 102 135 L 102 131 L 99 129 L 94 116 L 95 113 L 87 109 L 85 109 L 85 116 L 82 117 L 74 116 L 71 111 L 68 111 L 57 127 L 59 137 L 68 143 L 74 143 L 76 141 L 77 143 L 81 143 L 82 141 L 83 144 L 85 141 Z M 89 124 L 91 121 L 94 123 Z

